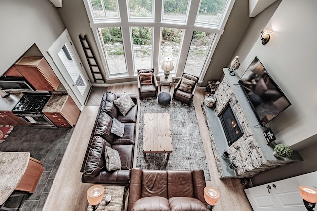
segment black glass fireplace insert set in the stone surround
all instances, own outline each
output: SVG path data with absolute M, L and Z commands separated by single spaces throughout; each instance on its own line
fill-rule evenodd
M 229 102 L 228 105 L 223 109 L 220 114 L 220 121 L 227 138 L 229 146 L 237 141 L 244 133 L 241 125 L 232 109 L 232 103 Z

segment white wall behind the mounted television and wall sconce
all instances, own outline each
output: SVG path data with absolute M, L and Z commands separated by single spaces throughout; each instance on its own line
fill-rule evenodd
M 257 56 L 292 105 L 270 122 L 277 143 L 303 149 L 317 142 L 317 1 L 283 0 L 268 22 L 270 41 L 254 44 L 243 72 Z

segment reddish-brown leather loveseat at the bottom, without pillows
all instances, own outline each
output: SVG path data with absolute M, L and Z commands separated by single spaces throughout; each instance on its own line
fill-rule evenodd
M 128 211 L 209 211 L 204 171 L 132 169 Z

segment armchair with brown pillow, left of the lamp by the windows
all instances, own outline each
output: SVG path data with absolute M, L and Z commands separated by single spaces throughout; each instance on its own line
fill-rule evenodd
M 158 96 L 158 82 L 153 68 L 138 70 L 138 89 L 140 99 Z

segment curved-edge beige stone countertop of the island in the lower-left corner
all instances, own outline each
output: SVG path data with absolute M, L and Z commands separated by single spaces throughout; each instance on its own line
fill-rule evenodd
M 0 152 L 0 205 L 19 184 L 29 160 L 29 152 Z

